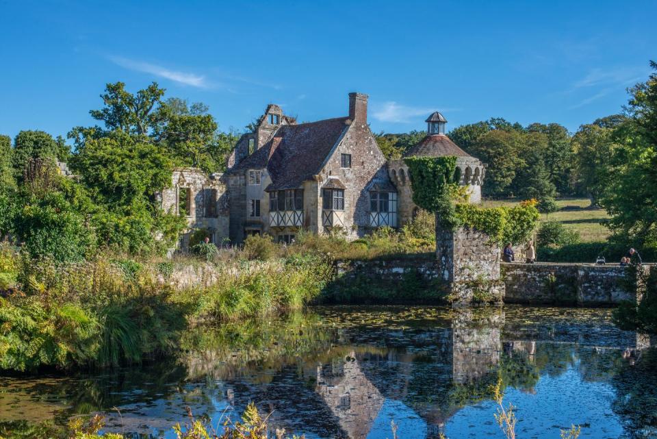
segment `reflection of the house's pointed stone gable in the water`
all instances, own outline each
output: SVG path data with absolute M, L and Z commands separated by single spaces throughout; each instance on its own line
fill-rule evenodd
M 366 438 L 385 398 L 365 377 L 351 352 L 331 364 L 318 364 L 315 391 L 352 439 Z

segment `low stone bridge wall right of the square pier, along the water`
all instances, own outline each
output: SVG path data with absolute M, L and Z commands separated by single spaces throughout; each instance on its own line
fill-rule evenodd
M 506 303 L 608 306 L 636 301 L 640 290 L 636 273 L 617 265 L 502 263 L 501 268 Z

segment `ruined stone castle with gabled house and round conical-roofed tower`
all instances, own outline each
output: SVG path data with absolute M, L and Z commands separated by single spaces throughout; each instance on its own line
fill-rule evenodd
M 386 160 L 368 126 L 368 95 L 349 94 L 348 116 L 296 123 L 270 104 L 253 132 L 244 134 L 223 174 L 179 168 L 162 192 L 162 208 L 188 218 L 186 248 L 195 229 L 211 242 L 239 244 L 251 234 L 291 242 L 300 229 L 342 230 L 350 239 L 376 227 L 400 227 L 417 213 L 404 160 Z M 469 201 L 481 199 L 485 164 L 445 134 L 434 112 L 427 134 L 408 156 L 455 155 Z

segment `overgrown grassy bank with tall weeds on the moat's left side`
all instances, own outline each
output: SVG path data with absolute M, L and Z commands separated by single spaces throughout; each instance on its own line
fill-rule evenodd
M 179 349 L 197 321 L 231 321 L 301 308 L 317 296 L 331 264 L 312 255 L 268 262 L 125 260 L 55 264 L 4 245 L 0 368 L 105 367 L 153 360 Z M 209 264 L 214 277 L 178 288 L 173 273 Z M 194 271 L 192 271 L 194 273 Z

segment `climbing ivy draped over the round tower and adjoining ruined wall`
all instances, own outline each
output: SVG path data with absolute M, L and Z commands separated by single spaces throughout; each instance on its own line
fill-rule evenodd
M 487 234 L 491 243 L 527 242 L 539 221 L 536 201 L 524 201 L 513 208 L 480 208 L 468 203 L 454 203 L 463 195 L 459 190 L 461 173 L 456 157 L 409 157 L 413 202 L 436 213 L 439 227 L 477 229 Z

